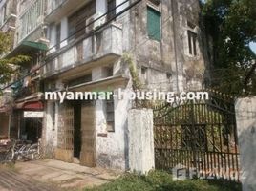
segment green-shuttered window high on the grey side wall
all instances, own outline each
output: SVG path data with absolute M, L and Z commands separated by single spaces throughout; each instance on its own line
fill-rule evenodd
M 147 32 L 149 38 L 160 41 L 160 20 L 161 14 L 159 11 L 154 10 L 151 7 L 147 7 Z

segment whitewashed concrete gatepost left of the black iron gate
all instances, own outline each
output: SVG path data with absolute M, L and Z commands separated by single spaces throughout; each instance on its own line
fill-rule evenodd
M 155 168 L 153 111 L 133 109 L 128 114 L 129 168 L 146 174 Z

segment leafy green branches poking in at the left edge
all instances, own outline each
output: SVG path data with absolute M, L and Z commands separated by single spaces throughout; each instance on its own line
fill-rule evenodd
M 6 84 L 11 80 L 12 74 L 17 74 L 17 70 L 14 67 L 15 65 L 21 64 L 25 61 L 29 61 L 30 57 L 25 55 L 17 55 L 11 58 L 4 58 L 5 54 L 9 53 L 12 48 L 13 38 L 11 37 L 11 32 L 4 33 L 0 32 L 0 55 L 3 58 L 0 58 L 0 85 Z M 1 93 L 1 89 L 0 89 Z

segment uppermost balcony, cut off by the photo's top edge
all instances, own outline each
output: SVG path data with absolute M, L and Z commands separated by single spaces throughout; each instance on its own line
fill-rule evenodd
M 56 22 L 82 6 L 90 0 L 48 0 L 46 9 L 46 22 Z

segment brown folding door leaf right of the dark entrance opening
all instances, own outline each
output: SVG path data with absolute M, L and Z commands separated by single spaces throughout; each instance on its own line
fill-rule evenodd
M 96 128 L 93 102 L 82 103 L 81 135 L 80 163 L 85 166 L 94 167 L 96 166 Z

